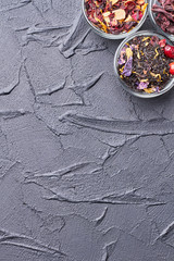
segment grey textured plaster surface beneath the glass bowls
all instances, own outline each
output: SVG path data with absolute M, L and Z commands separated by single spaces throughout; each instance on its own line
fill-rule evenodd
M 119 44 L 80 0 L 0 0 L 0 261 L 174 260 L 174 91 L 126 94 Z

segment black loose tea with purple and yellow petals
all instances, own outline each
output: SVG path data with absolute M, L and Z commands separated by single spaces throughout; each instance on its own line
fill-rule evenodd
M 119 74 L 126 85 L 138 92 L 159 92 L 170 80 L 173 61 L 164 53 L 165 39 L 138 36 L 121 50 Z

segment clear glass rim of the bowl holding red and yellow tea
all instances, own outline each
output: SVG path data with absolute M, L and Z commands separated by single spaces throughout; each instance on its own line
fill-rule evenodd
M 145 2 L 147 3 L 148 1 L 145 0 Z M 101 37 L 107 38 L 107 39 L 112 39 L 112 40 L 119 40 L 119 39 L 123 39 L 125 37 L 128 37 L 130 34 L 134 34 L 135 32 L 137 32 L 142 24 L 145 23 L 147 15 L 148 15 L 148 7 L 146 8 L 145 14 L 142 16 L 142 18 L 140 20 L 140 22 L 133 28 L 130 29 L 128 33 L 121 33 L 119 35 L 113 35 L 113 34 L 107 34 L 103 30 L 101 30 L 100 28 L 96 27 L 87 17 L 86 15 L 86 11 L 85 11 L 85 0 L 83 0 L 83 13 L 85 15 L 86 21 L 88 22 L 88 24 L 90 25 L 90 27 Z

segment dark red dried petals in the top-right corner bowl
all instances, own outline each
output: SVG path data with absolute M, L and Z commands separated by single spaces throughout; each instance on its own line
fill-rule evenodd
M 152 7 L 157 24 L 165 33 L 174 35 L 174 0 L 158 0 L 157 3 Z

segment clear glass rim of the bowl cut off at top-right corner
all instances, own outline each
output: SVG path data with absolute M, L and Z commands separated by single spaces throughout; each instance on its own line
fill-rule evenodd
M 157 29 L 158 33 L 164 35 L 165 37 L 167 37 L 171 41 L 174 41 L 174 35 L 167 34 L 165 33 L 163 29 L 161 29 L 161 27 L 156 23 L 156 13 L 152 12 L 152 7 L 153 4 L 158 4 L 160 5 L 160 3 L 158 2 L 158 0 L 149 0 L 149 7 L 148 7 L 148 13 L 149 13 L 149 18 L 153 25 L 153 27 Z

